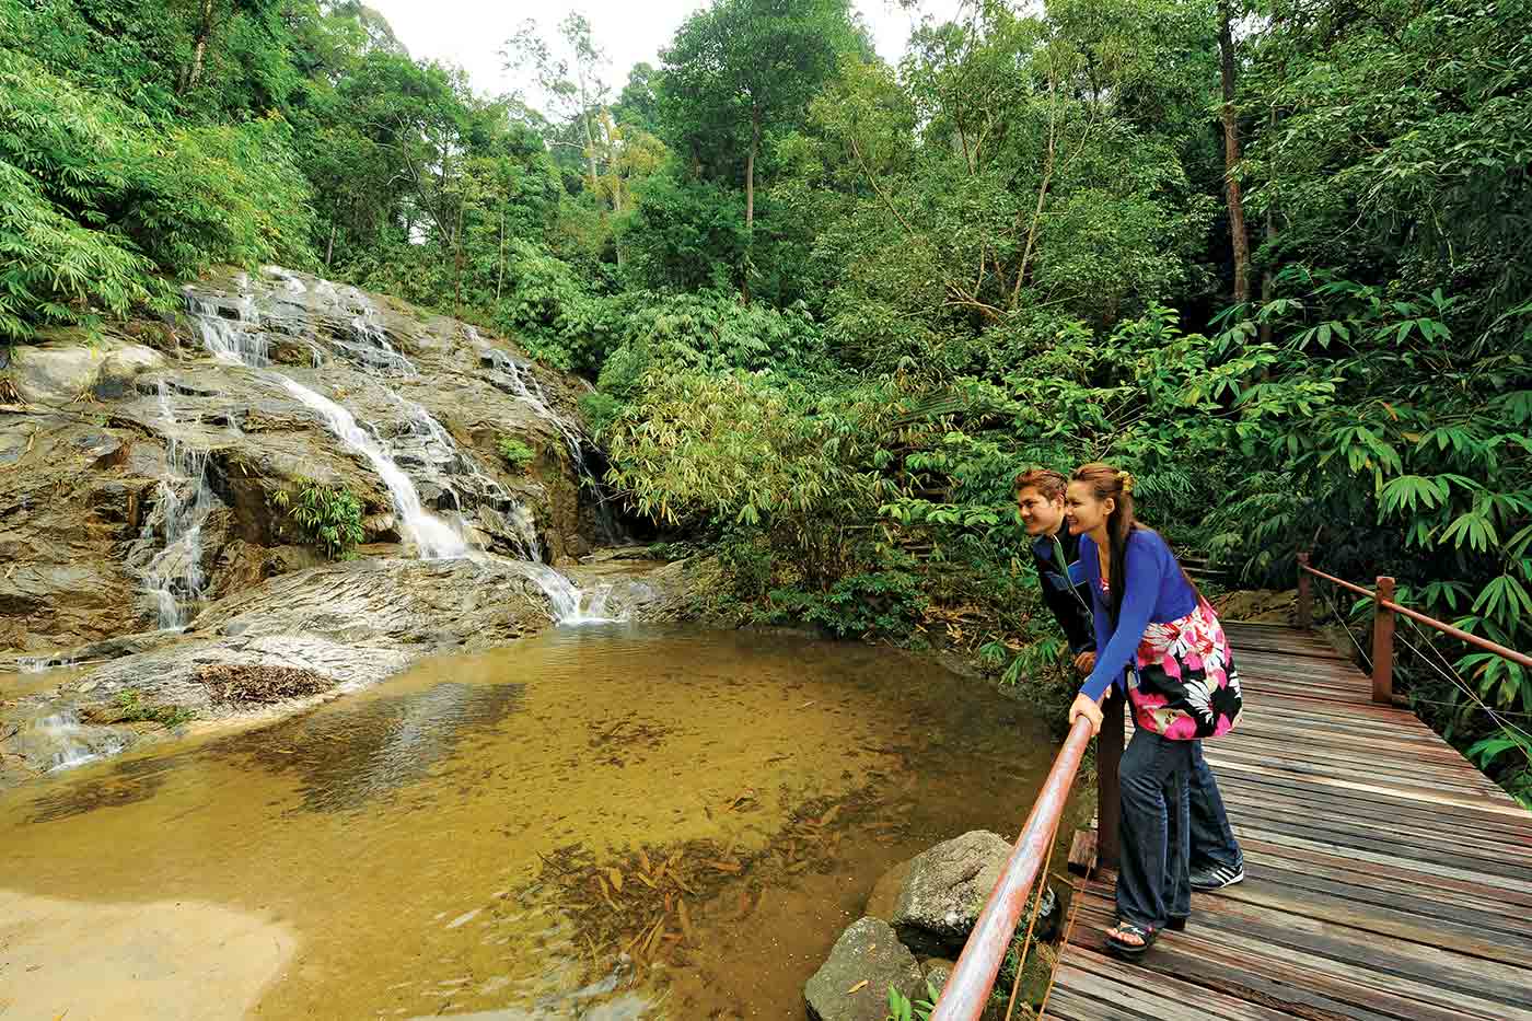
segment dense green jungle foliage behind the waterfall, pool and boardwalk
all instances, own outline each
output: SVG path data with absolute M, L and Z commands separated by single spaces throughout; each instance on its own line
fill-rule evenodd
M 0 0 L 0 337 L 214 262 L 395 293 L 597 382 L 728 613 L 1013 679 L 1011 478 L 1092 458 L 1244 586 L 1311 547 L 1532 647 L 1532 3 L 1025 11 L 890 66 L 846 0 L 712 0 L 620 86 L 571 17 L 484 97 L 355 2 Z M 1532 676 L 1435 647 L 1422 713 L 1532 790 Z

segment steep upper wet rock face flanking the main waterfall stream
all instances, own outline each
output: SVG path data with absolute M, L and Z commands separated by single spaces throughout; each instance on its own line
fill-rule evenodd
M 0 652 L 155 624 L 144 573 L 165 547 L 165 494 L 188 500 L 196 488 L 178 477 L 188 455 L 205 460 L 219 504 L 196 564 L 208 598 L 313 563 L 291 553 L 306 537 L 273 506 L 300 480 L 355 494 L 365 543 L 400 543 L 374 466 L 282 377 L 345 405 L 427 506 L 461 515 L 487 550 L 542 563 L 588 550 L 590 497 L 571 455 L 584 382 L 457 320 L 306 274 L 228 273 L 193 294 L 256 330 L 279 371 L 211 357 L 184 316 L 123 323 L 130 339 L 60 330 L 15 348 L 8 379 L 29 403 L 0 411 Z M 527 471 L 501 458 L 506 437 L 535 451 Z

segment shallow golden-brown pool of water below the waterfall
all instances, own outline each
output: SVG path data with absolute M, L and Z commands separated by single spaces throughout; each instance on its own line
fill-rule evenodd
M 1014 837 L 1051 757 L 1023 705 L 863 645 L 435 659 L 0 794 L 0 1016 L 798 1018 L 878 877 Z

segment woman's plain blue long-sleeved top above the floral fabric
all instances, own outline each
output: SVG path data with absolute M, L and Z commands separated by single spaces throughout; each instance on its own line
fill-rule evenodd
M 1114 629 L 1102 592 L 1102 560 L 1095 540 L 1080 537 L 1080 566 L 1091 583 L 1091 599 L 1095 604 L 1095 668 L 1080 691 L 1092 699 L 1100 699 L 1112 682 L 1123 684 L 1123 671 L 1134 662 L 1138 641 L 1151 622 L 1177 621 L 1196 609 L 1196 592 L 1187 584 L 1175 553 L 1158 532 L 1135 529 L 1129 533 L 1124 560 L 1128 589 Z M 1112 584 L 1121 584 L 1121 579 L 1112 578 Z

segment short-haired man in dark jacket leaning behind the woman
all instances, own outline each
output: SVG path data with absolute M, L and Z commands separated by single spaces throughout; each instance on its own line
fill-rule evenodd
M 1095 630 L 1091 627 L 1091 590 L 1080 570 L 1080 537 L 1069 535 L 1063 509 L 1068 480 L 1045 468 L 1016 477 L 1016 510 L 1033 538 L 1033 566 L 1043 587 L 1043 602 L 1063 629 L 1074 668 L 1095 667 Z M 1218 782 L 1203 759 L 1203 742 L 1192 742 L 1192 889 L 1213 891 L 1244 881 L 1244 852 L 1229 828 Z

